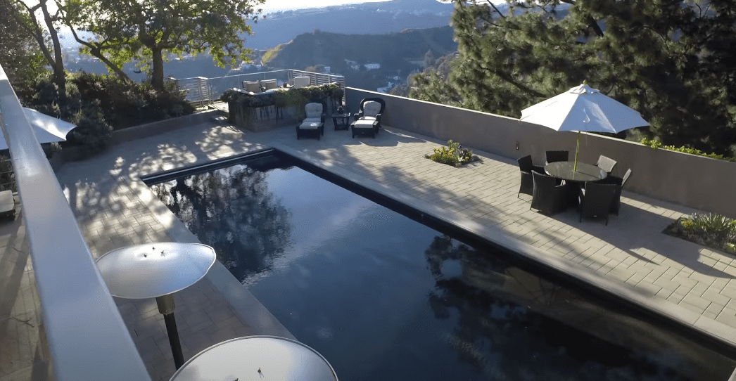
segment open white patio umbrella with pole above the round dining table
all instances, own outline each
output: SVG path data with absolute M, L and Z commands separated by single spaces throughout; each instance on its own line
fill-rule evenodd
M 637 110 L 585 84 L 521 110 L 520 120 L 557 131 L 577 131 L 575 171 L 578 170 L 581 131 L 618 133 L 649 125 Z

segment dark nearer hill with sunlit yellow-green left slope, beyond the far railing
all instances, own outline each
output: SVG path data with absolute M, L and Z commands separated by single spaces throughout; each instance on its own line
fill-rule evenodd
M 326 65 L 334 73 L 348 70 L 345 60 L 358 64 L 406 68 L 407 60 L 417 60 L 431 50 L 435 57 L 457 50 L 453 28 L 407 29 L 385 35 L 342 35 L 320 32 L 298 35 L 263 54 L 263 63 L 272 68 L 306 68 Z

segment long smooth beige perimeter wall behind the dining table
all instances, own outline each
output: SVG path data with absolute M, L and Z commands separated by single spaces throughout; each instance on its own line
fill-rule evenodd
M 471 149 L 514 160 L 531 154 L 537 165 L 544 165 L 547 150 L 567 149 L 570 160 L 575 154 L 576 132 L 556 132 L 500 115 L 355 88 L 346 90 L 347 109 L 357 112 L 361 99 L 368 97 L 386 101 L 381 119 L 386 126 L 440 140 L 452 139 Z M 626 190 L 736 218 L 736 163 L 581 135 L 579 160 L 595 164 L 601 154 L 618 161 L 615 175 L 621 176 L 631 168 Z

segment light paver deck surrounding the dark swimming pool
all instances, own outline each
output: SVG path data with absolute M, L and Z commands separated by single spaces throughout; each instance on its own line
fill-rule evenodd
M 610 216 L 608 226 L 580 223 L 574 210 L 543 216 L 529 210 L 531 196 L 517 198 L 520 175 L 514 159 L 474 150 L 481 162 L 453 168 L 422 157 L 444 143 L 393 127 L 375 139 L 351 139 L 350 131 L 328 127 L 321 140 L 296 140 L 293 127 L 254 133 L 206 123 L 65 163 L 57 178 L 97 257 L 122 246 L 180 239 L 182 227 L 172 226 L 171 219 L 160 217 L 160 208 L 152 207 L 141 175 L 274 147 L 736 341 L 734 258 L 662 234 L 675 218 L 698 210 L 624 190 L 620 216 Z M 152 379 L 169 380 L 173 360 L 155 301 L 116 302 Z M 177 293 L 176 303 L 185 358 L 228 338 L 261 333 L 205 279 Z M 3 376 L 0 381 L 12 380 Z

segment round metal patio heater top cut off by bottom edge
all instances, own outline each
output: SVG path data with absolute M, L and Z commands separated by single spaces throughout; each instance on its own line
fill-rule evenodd
M 314 349 L 288 338 L 247 336 L 210 346 L 191 357 L 169 381 L 337 381 Z

